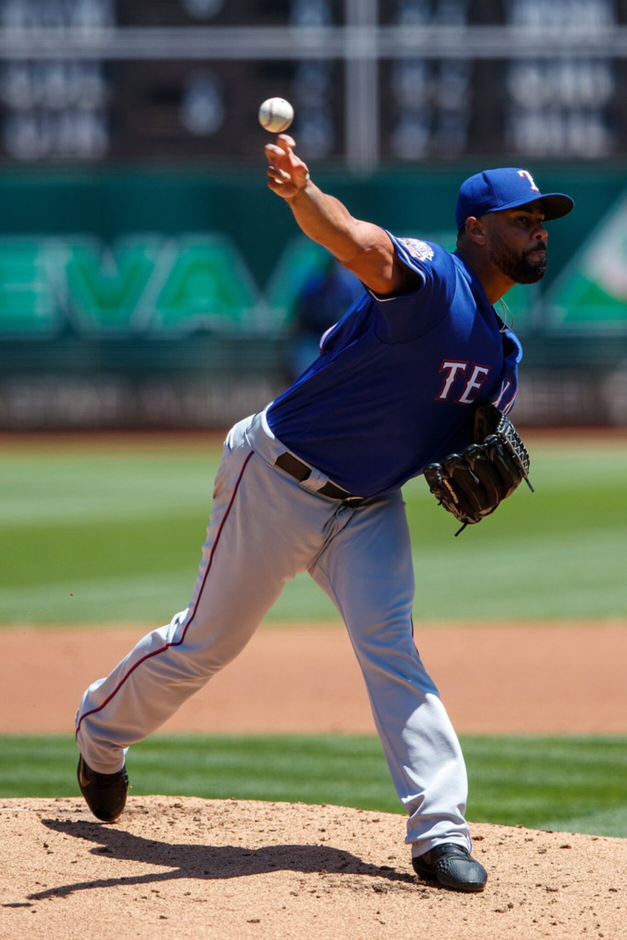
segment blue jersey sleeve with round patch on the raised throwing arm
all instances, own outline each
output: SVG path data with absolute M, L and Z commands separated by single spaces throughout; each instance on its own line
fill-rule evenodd
M 397 257 L 420 276 L 422 283 L 408 293 L 384 297 L 366 290 L 378 308 L 379 339 L 385 343 L 411 342 L 429 333 L 447 317 L 455 287 L 455 265 L 439 244 L 398 238 L 385 232 Z

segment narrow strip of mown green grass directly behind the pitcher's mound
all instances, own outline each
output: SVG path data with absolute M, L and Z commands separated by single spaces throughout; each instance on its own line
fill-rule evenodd
M 627 739 L 462 738 L 468 818 L 627 836 Z M 70 737 L 0 737 L 0 793 L 76 796 Z M 134 795 L 331 803 L 401 812 L 381 744 L 366 736 L 153 737 L 128 767 Z

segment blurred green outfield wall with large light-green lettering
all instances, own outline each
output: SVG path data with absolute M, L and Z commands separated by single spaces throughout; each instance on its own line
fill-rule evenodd
M 457 190 L 477 169 L 314 178 L 355 215 L 452 247 Z M 575 211 L 550 226 L 541 285 L 507 296 L 525 340 L 527 413 L 568 422 L 587 402 L 622 423 L 627 171 L 532 171 Z M 0 196 L 0 427 L 226 424 L 286 383 L 290 315 L 321 249 L 267 189 L 262 162 L 12 171 Z

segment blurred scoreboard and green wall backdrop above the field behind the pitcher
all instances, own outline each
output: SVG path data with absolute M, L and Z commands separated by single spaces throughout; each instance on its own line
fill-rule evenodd
M 627 423 L 625 0 L 1 0 L 0 430 L 224 428 L 285 386 L 324 263 L 265 187 L 293 102 L 316 180 L 449 244 L 459 183 L 576 211 L 507 297 L 517 420 Z

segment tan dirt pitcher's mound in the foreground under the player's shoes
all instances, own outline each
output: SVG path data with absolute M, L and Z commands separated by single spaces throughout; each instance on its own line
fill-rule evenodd
M 134 797 L 0 801 L 0 935 L 503 940 L 627 936 L 627 840 L 478 824 L 484 893 L 414 876 L 404 820 L 345 807 Z

